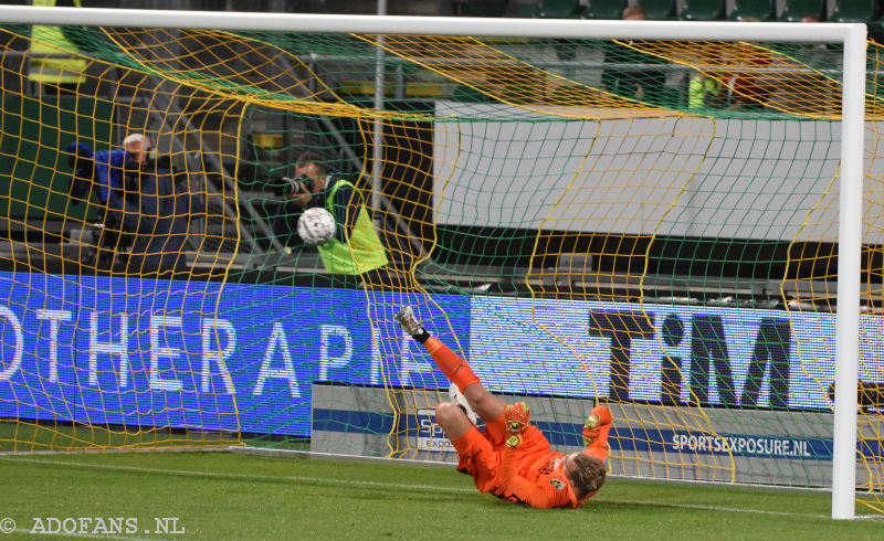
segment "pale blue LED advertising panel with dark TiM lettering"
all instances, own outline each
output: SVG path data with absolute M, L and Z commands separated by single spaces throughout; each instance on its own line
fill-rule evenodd
M 471 365 L 492 391 L 831 410 L 833 314 L 476 297 L 471 316 Z M 860 328 L 861 359 L 880 358 L 882 318 Z M 884 382 L 884 367 L 860 379 Z

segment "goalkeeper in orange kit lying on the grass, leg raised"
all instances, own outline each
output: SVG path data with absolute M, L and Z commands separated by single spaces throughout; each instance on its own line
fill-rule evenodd
M 452 400 L 459 403 L 442 402 L 435 417 L 457 449 L 457 470 L 472 475 L 480 492 L 540 509 L 578 508 L 598 492 L 604 482 L 611 429 L 607 406 L 594 407 L 583 425 L 587 450 L 557 453 L 529 423 L 528 406 L 507 405 L 491 394 L 466 361 L 423 329 L 410 306 L 396 319 L 452 381 Z M 485 421 L 485 432 L 476 428 L 467 406 Z

